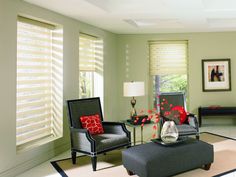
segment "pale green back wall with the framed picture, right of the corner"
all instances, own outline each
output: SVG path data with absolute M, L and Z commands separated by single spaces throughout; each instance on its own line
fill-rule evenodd
M 151 107 L 151 79 L 149 78 L 148 41 L 149 40 L 188 40 L 188 85 L 189 110 L 197 113 L 199 106 L 236 105 L 236 32 L 222 33 L 181 33 L 181 34 L 138 34 L 118 35 L 119 61 L 119 113 L 127 117 L 130 98 L 123 97 L 123 82 L 145 81 L 146 96 L 137 97 L 137 109 Z M 230 58 L 232 91 L 202 91 L 202 59 Z

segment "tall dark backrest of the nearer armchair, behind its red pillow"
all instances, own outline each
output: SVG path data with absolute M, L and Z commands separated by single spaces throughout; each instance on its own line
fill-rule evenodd
M 84 98 L 68 100 L 69 123 L 73 128 L 82 128 L 80 123 L 81 116 L 98 114 L 103 121 L 100 98 Z

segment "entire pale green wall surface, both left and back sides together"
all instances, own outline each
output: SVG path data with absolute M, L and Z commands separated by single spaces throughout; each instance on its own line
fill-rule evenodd
M 198 106 L 236 103 L 236 32 L 116 35 L 21 0 L 0 0 L 0 176 L 15 176 L 69 148 L 66 106 L 63 138 L 16 153 L 16 22 L 29 15 L 63 25 L 64 101 L 78 98 L 78 33 L 104 39 L 104 115 L 106 120 L 127 119 L 130 98 L 123 97 L 124 81 L 145 81 L 146 96 L 137 97 L 137 108 L 150 108 L 148 40 L 189 41 L 189 111 Z M 202 92 L 201 59 L 231 58 L 232 91 Z

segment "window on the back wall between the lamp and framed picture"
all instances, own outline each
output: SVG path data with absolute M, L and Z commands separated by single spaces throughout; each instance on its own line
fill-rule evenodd
M 154 105 L 161 92 L 187 93 L 187 41 L 151 41 L 149 50 Z

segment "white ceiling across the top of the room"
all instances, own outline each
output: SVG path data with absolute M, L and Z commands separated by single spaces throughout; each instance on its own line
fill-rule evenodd
M 236 0 L 24 0 L 118 34 L 236 31 Z

